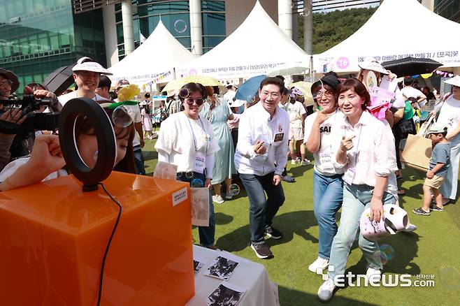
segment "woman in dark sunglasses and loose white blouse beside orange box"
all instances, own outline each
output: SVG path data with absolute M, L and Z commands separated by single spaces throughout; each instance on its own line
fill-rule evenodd
M 179 91 L 184 110 L 176 112 L 161 123 L 155 149 L 158 161 L 178 166 L 177 180 L 192 187 L 211 187 L 214 153 L 219 145 L 214 139 L 213 126 L 199 114 L 206 98 L 206 89 L 199 83 L 187 83 Z M 209 226 L 199 226 L 200 244 L 214 247 L 214 206 L 210 198 Z

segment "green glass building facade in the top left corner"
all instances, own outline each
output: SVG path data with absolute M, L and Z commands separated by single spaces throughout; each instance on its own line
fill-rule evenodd
M 73 15 L 69 0 L 0 0 L 0 67 L 22 87 L 89 56 L 106 64 L 102 11 Z

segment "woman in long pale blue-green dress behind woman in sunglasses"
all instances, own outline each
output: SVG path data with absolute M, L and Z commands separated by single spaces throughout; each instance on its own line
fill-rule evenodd
M 227 120 L 233 119 L 233 112 L 227 101 L 220 101 L 217 95 L 214 94 L 213 87 L 206 86 L 208 99 L 203 104 L 201 115 L 209 120 L 213 126 L 214 137 L 219 144 L 220 150 L 214 155 L 213 167 L 213 184 L 214 196 L 213 201 L 217 204 L 224 203 L 221 195 L 221 183 L 225 182 L 226 193 L 225 198 L 230 200 L 233 194 L 230 190 L 231 175 L 236 174 L 235 169 L 235 147 Z

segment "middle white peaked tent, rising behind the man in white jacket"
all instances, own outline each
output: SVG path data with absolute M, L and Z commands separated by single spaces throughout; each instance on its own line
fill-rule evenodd
M 176 69 L 180 75 L 204 74 L 218 79 L 266 74 L 280 64 L 309 66 L 299 48 L 266 13 L 259 1 L 230 36 L 194 61 Z

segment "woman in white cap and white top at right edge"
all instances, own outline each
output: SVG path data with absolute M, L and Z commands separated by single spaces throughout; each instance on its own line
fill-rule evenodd
M 459 179 L 460 161 L 460 76 L 446 81 L 452 85 L 452 94 L 445 99 L 440 109 L 438 123 L 447 126 L 446 139 L 450 142 L 450 167 L 447 177 L 440 187 L 443 202 L 456 201 L 457 180 Z

